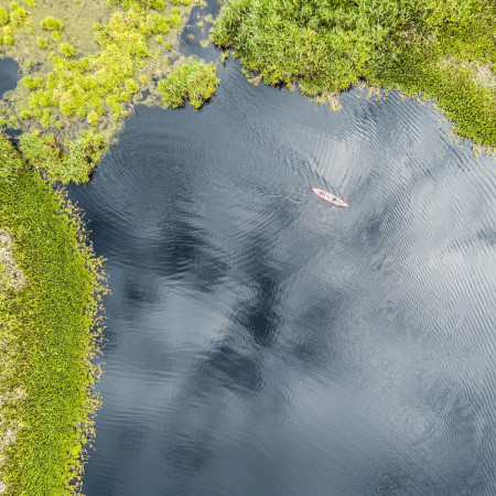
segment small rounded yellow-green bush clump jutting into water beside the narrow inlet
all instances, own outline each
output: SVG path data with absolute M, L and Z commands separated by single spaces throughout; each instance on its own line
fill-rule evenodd
M 181 65 L 159 83 L 164 107 L 182 107 L 186 100 L 198 109 L 215 93 L 219 79 L 215 64 L 194 61 Z

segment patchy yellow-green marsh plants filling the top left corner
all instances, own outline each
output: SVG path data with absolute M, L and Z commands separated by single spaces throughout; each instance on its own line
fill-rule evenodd
M 50 179 L 84 182 L 123 118 L 141 100 L 142 91 L 151 94 L 149 103 L 162 101 L 159 82 L 184 63 L 173 46 L 193 3 L 57 3 L 61 19 L 57 10 L 36 7 L 25 29 L 19 31 L 14 46 L 6 48 L 20 62 L 23 78 L 0 106 L 0 127 L 30 133 L 21 138 L 22 153 L 33 166 L 45 168 Z M 87 13 L 78 10 L 79 3 L 85 4 Z M 93 11 L 98 18 L 85 23 L 93 19 Z M 9 12 L 8 17 L 11 23 Z M 83 22 L 78 22 L 80 17 Z M 176 58 L 174 65 L 172 56 Z M 166 101 L 164 105 L 170 106 Z

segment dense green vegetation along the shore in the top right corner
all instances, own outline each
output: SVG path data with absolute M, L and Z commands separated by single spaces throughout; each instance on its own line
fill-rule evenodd
M 493 0 L 233 0 L 212 39 L 265 83 L 332 104 L 360 80 L 432 98 L 495 147 L 495 19 Z

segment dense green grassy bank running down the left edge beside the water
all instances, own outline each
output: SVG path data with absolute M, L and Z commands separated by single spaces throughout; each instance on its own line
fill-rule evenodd
M 0 478 L 7 494 L 69 494 L 98 403 L 101 261 L 63 194 L 1 136 L 0 229 Z

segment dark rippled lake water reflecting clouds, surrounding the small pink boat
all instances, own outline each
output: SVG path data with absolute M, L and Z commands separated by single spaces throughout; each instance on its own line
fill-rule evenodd
M 71 190 L 112 291 L 85 494 L 496 494 L 496 163 L 219 75 Z

